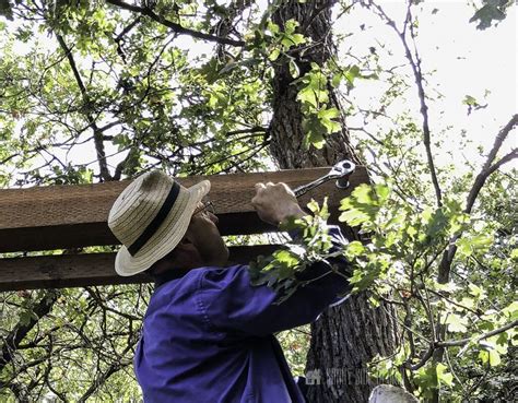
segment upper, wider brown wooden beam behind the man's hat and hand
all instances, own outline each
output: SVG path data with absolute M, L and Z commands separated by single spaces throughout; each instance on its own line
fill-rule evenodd
M 293 169 L 274 173 L 216 175 L 180 178 L 184 186 L 201 179 L 212 182 L 210 197 L 220 218 L 222 235 L 258 234 L 275 228 L 262 223 L 250 205 L 256 182 L 285 182 L 294 188 L 326 175 L 329 168 Z M 351 176 L 351 187 L 340 190 L 332 181 L 301 199 L 337 208 L 340 199 L 358 183 L 368 181 L 364 167 Z M 0 190 L 0 252 L 68 249 L 117 245 L 106 221 L 115 199 L 128 181 L 81 186 L 35 187 Z

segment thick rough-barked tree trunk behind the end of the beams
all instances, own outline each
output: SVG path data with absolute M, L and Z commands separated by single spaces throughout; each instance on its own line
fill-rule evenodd
M 331 11 L 333 1 L 296 0 L 283 2 L 273 14 L 273 22 L 283 29 L 284 22 L 294 19 L 299 31 L 311 37 L 314 46 L 301 56 L 301 75 L 309 71 L 309 63 L 323 62 L 332 56 Z M 273 79 L 273 117 L 270 125 L 271 152 L 281 168 L 303 168 L 333 165 L 343 158 L 360 163 L 351 146 L 345 120 L 342 130 L 327 139 L 322 150 L 303 150 L 302 111 L 296 100 L 298 88 L 293 85 L 287 63 L 275 64 Z M 341 110 L 338 97 L 329 87 L 330 106 Z M 343 116 L 343 112 L 342 112 Z M 351 232 L 348 236 L 357 238 Z M 397 324 L 391 306 L 373 309 L 365 294 L 353 296 L 344 304 L 328 309 L 311 324 L 311 343 L 306 372 L 317 370 L 320 384 L 308 386 L 310 403 L 367 402 L 372 384 L 367 381 L 366 364 L 377 354 L 393 352 L 397 345 Z M 318 382 L 314 382 L 318 383 Z

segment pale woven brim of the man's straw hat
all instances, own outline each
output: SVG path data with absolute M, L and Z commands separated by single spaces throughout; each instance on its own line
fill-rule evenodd
M 167 253 L 169 253 L 184 237 L 190 223 L 192 213 L 198 203 L 211 190 L 211 182 L 202 180 L 187 189 L 188 197 L 185 198 L 185 206 L 178 206 L 180 216 L 169 212 L 164 223 L 158 227 L 156 234 L 150 239 L 152 247 L 142 248 L 137 256 L 131 256 L 126 246 L 122 246 L 115 258 L 115 271 L 121 276 L 130 276 L 141 273 L 153 265 Z M 175 210 L 175 209 L 173 209 Z

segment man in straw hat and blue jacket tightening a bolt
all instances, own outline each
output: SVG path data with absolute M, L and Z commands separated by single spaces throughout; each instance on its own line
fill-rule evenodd
M 201 203 L 209 190 L 207 180 L 187 189 L 151 171 L 122 191 L 109 214 L 123 244 L 117 273 L 148 271 L 156 281 L 134 356 L 144 401 L 302 403 L 273 333 L 314 321 L 348 283 L 316 263 L 303 278 L 316 281 L 274 304 L 271 288 L 250 285 L 248 266 L 225 268 L 217 217 Z M 257 183 L 251 203 L 274 225 L 306 214 L 284 183 Z M 330 234 L 342 238 L 335 227 Z M 332 264 L 348 269 L 340 259 Z

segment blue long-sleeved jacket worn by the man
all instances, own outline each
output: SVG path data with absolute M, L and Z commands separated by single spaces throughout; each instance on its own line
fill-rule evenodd
M 340 230 L 330 234 L 342 247 Z M 314 264 L 304 280 L 329 271 Z M 165 282 L 151 297 L 134 356 L 144 402 L 305 402 L 272 333 L 314 321 L 346 289 L 331 273 L 275 305 L 272 288 L 250 285 L 246 265 L 193 269 Z

